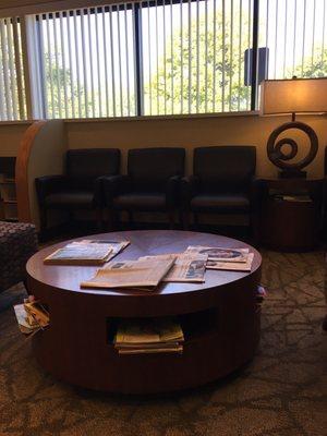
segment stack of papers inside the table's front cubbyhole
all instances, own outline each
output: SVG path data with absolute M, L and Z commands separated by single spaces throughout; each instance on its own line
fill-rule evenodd
M 121 319 L 114 336 L 119 354 L 182 353 L 184 335 L 177 319 Z

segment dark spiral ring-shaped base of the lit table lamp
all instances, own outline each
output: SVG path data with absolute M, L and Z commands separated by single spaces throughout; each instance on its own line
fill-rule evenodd
M 276 143 L 277 137 L 280 135 L 280 133 L 289 129 L 299 129 L 302 132 L 306 133 L 310 138 L 310 150 L 307 155 L 299 162 L 288 162 L 288 160 L 293 159 L 298 155 L 298 144 L 294 140 L 284 137 Z M 284 145 L 291 146 L 289 153 L 282 152 L 282 147 Z M 300 172 L 302 168 L 306 167 L 313 161 L 313 159 L 316 157 L 317 152 L 318 137 L 315 131 L 310 125 L 299 121 L 292 121 L 280 125 L 271 133 L 267 142 L 268 158 L 274 165 L 276 165 L 276 167 L 281 168 L 283 171 Z

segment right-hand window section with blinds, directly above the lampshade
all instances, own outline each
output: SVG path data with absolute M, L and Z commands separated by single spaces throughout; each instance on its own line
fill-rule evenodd
M 259 45 L 269 78 L 327 75 L 327 1 L 261 0 Z

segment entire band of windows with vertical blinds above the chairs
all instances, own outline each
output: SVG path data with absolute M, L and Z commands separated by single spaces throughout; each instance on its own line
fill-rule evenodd
M 327 0 L 140 0 L 0 23 L 2 120 L 26 106 L 73 119 L 255 110 L 264 78 L 327 75 Z

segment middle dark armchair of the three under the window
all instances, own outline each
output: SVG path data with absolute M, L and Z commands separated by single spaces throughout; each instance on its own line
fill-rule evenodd
M 104 179 L 109 226 L 117 213 L 126 210 L 130 221 L 134 211 L 164 211 L 173 227 L 184 160 L 180 147 L 130 149 L 128 174 Z

